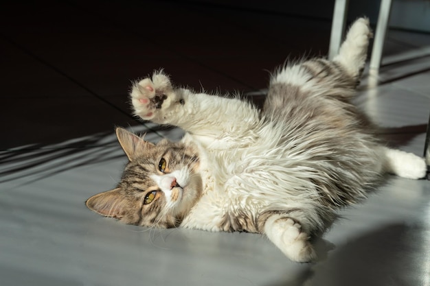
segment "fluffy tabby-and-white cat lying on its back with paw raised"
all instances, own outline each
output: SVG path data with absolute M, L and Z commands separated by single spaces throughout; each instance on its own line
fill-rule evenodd
M 333 60 L 285 64 L 271 75 L 262 109 L 177 88 L 163 71 L 135 82 L 135 115 L 186 133 L 153 144 L 117 128 L 129 163 L 88 208 L 126 224 L 260 233 L 292 261 L 315 261 L 313 238 L 337 209 L 364 200 L 385 174 L 427 171 L 423 158 L 379 143 L 350 103 L 371 36 L 360 18 Z

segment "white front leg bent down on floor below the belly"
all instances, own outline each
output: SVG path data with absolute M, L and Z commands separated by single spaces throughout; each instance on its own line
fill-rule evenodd
M 292 217 L 271 215 L 264 223 L 264 234 L 292 261 L 310 262 L 317 258 L 310 236 Z

